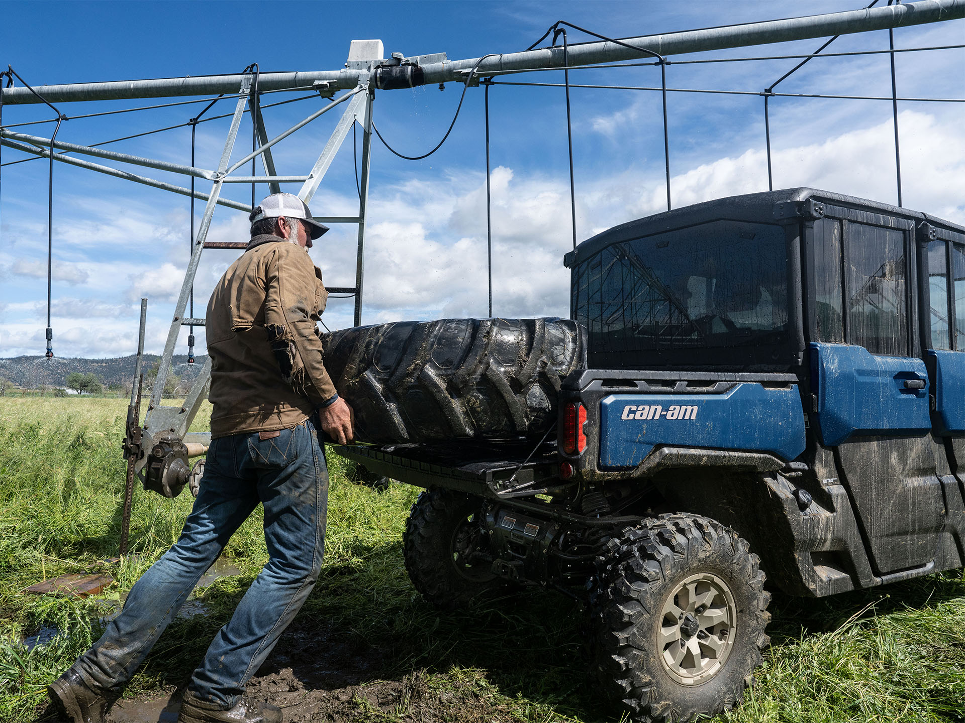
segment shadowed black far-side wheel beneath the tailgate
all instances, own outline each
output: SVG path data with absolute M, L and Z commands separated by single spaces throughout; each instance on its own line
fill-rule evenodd
M 427 490 L 409 512 L 402 536 L 405 569 L 429 603 L 461 607 L 485 590 L 502 587 L 485 551 L 488 538 L 480 522 L 483 499 L 454 490 Z

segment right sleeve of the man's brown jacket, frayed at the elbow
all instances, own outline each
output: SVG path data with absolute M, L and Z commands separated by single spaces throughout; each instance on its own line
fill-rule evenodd
M 305 249 L 290 243 L 275 247 L 265 268 L 268 344 L 286 381 L 319 406 L 335 396 L 316 330 L 328 294 Z

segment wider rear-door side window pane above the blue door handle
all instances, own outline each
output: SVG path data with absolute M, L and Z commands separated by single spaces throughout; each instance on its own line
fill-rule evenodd
M 845 227 L 848 341 L 872 354 L 908 354 L 904 240 L 894 228 Z

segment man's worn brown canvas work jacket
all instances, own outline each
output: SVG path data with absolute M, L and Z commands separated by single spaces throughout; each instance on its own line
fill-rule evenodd
M 335 395 L 316 327 L 327 298 L 306 249 L 251 240 L 207 303 L 212 438 L 293 427 Z

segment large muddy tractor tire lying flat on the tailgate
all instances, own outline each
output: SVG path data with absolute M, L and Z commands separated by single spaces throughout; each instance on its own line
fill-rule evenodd
M 322 336 L 325 366 L 362 442 L 542 435 L 566 375 L 586 367 L 568 319 L 441 319 Z

